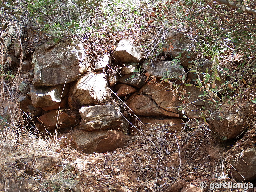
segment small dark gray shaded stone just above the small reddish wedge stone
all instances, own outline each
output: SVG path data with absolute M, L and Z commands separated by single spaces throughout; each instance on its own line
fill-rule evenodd
M 127 84 L 136 88 L 142 87 L 146 83 L 145 81 L 145 75 L 140 73 L 127 74 L 119 79 L 120 83 Z

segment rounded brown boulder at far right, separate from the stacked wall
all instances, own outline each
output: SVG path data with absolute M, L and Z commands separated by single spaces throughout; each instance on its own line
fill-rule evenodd
M 247 126 L 248 120 L 253 118 L 254 109 L 250 103 L 224 104 L 211 114 L 210 130 L 217 133 L 218 140 L 236 139 Z

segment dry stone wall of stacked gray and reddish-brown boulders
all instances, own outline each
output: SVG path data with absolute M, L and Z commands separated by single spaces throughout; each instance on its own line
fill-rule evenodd
M 207 71 L 210 76 L 215 74 L 209 70 L 213 66 L 211 61 L 196 59 L 195 47 L 185 28 L 172 29 L 165 43 L 166 58 L 181 56 L 179 62 L 151 63 L 144 58 L 146 53 L 129 40 L 121 40 L 112 57 L 105 54 L 91 67 L 78 40 L 39 45 L 32 62 L 22 63 L 27 71 L 19 87 L 20 110 L 34 120 L 36 131 L 58 132 L 61 147 L 70 146 L 85 153 L 123 147 L 138 130 L 181 132 L 188 125 L 188 119 L 200 119 L 204 110 L 211 109 L 212 96 L 205 95 L 204 88 L 213 86 L 213 82 L 199 87 L 196 79 L 202 81 Z M 118 67 L 110 68 L 110 61 Z M 194 64 L 197 73 L 190 70 Z M 31 66 L 33 72 L 29 71 Z M 214 86 L 221 87 L 226 76 L 220 70 L 216 75 L 220 79 Z M 6 114 L 10 104 L 6 105 Z M 253 115 L 254 109 L 249 103 L 235 103 L 231 108 L 224 104 L 212 110 L 209 128 L 216 141 L 226 142 L 245 132 L 248 119 Z M 123 116 L 133 124 L 128 130 Z M 247 154 L 249 160 L 255 158 L 253 150 Z M 236 159 L 230 158 L 230 164 L 235 167 Z M 244 169 L 256 168 L 249 163 L 243 166 Z M 256 178 L 255 173 L 243 176 L 249 180 Z

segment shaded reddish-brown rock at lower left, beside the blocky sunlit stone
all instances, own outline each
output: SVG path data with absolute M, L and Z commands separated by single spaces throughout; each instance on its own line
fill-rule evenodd
M 59 111 L 59 115 L 58 110 L 50 111 L 40 116 L 38 121 L 41 123 L 41 125 L 38 127 L 39 131 L 43 131 L 44 129 L 54 131 L 56 126 L 60 128 L 68 128 L 79 123 L 75 114 L 69 115 L 62 110 Z

